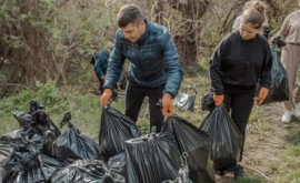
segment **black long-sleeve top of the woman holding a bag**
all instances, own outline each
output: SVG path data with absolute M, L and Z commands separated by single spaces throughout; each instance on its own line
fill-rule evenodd
M 269 89 L 272 55 L 266 38 L 243 40 L 239 31 L 229 33 L 216 48 L 209 63 L 211 87 L 217 95 L 223 85 L 254 88 L 259 81 Z

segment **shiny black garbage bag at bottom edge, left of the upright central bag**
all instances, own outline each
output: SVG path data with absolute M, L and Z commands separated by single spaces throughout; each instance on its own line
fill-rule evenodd
M 61 169 L 51 177 L 51 183 L 124 183 L 124 177 L 110 172 L 101 160 L 78 160 Z

